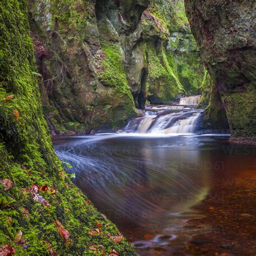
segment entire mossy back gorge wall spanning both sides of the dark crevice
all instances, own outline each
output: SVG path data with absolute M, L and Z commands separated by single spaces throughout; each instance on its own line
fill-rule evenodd
M 52 134 L 121 127 L 147 102 L 199 93 L 204 67 L 183 1 L 29 1 Z

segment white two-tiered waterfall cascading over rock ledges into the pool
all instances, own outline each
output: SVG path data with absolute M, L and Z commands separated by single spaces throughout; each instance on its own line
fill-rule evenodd
M 132 119 L 123 132 L 147 134 L 194 133 L 202 110 L 193 109 L 201 96 L 184 97 L 179 105 L 149 105 L 145 116 Z M 186 106 L 186 105 L 193 105 Z

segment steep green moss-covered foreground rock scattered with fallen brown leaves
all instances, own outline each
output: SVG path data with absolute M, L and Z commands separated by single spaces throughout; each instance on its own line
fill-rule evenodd
M 43 116 L 26 5 L 26 1 L 3 0 L 0 6 L 1 248 L 9 245 L 17 255 L 113 250 L 134 255 L 116 226 L 72 184 L 54 153 Z

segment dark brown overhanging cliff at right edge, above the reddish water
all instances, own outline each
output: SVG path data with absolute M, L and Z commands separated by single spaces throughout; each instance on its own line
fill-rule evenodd
M 231 140 L 255 142 L 254 1 L 185 1 L 191 30 L 217 87 Z

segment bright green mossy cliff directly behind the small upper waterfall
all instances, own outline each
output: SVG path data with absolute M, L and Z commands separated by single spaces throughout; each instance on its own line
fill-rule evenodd
M 142 19 L 150 103 L 170 103 L 184 93 L 198 94 L 204 66 L 184 2 L 153 0 Z

